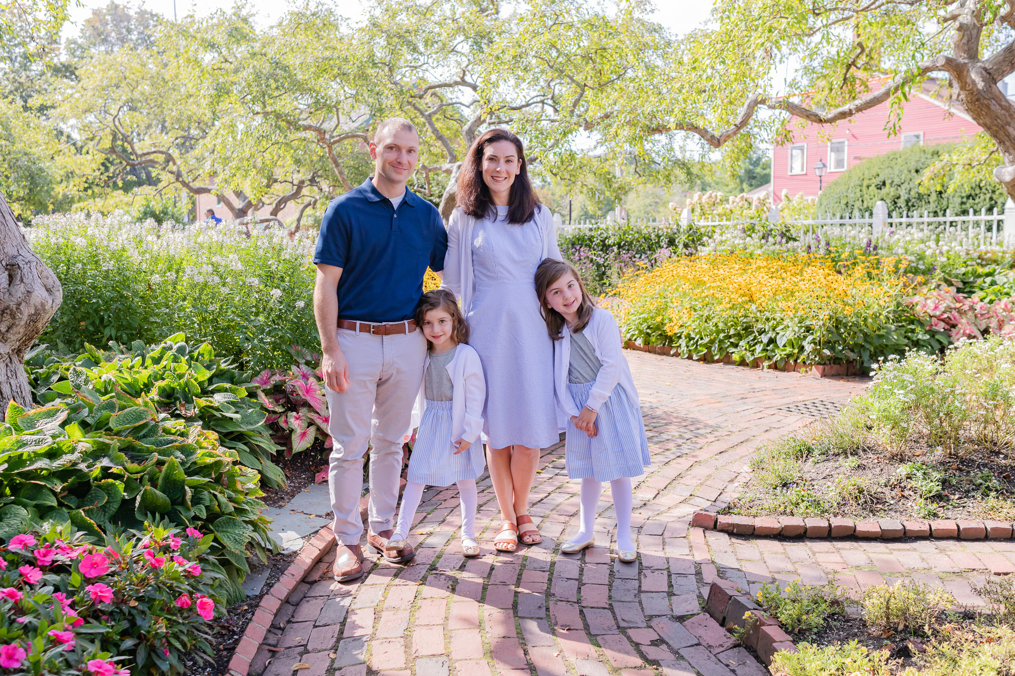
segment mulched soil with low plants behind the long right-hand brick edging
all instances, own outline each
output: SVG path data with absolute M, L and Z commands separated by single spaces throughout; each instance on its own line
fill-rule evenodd
M 756 475 L 756 474 L 755 474 Z M 842 482 L 852 486 L 843 490 Z M 834 484 L 838 482 L 838 492 Z M 790 485 L 764 490 L 752 478 L 728 512 L 750 516 L 1015 521 L 1015 460 L 969 448 L 959 457 L 917 448 L 903 459 L 861 449 L 804 460 Z

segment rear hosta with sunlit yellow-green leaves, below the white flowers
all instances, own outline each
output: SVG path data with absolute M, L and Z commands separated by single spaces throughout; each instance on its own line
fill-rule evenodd
M 74 357 L 39 349 L 26 361 L 35 398 L 48 404 L 81 387 L 100 397 L 117 389 L 131 397 L 145 394 L 159 414 L 216 433 L 219 443 L 257 469 L 268 486 L 284 485 L 285 474 L 271 461 L 278 446 L 264 424 L 262 402 L 268 402 L 248 391 L 256 390 L 249 374 L 215 357 L 207 343 L 192 348 L 184 339 L 177 333 L 150 347 L 140 341 L 130 348 L 111 343 L 109 352 L 86 346 Z

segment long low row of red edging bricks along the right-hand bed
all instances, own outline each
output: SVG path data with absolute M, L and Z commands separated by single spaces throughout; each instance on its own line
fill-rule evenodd
M 1007 521 L 854 521 L 840 518 L 744 517 L 734 514 L 695 512 L 691 526 L 720 530 L 733 535 L 782 535 L 783 537 L 857 537 L 890 540 L 897 537 L 957 537 L 960 540 L 1007 540 L 1013 536 Z

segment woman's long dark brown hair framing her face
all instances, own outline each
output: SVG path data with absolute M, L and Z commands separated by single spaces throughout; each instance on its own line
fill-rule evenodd
M 469 148 L 458 174 L 458 204 L 469 216 L 484 218 L 495 216 L 497 211 L 490 198 L 490 189 L 483 180 L 483 151 L 486 146 L 497 141 L 511 141 L 518 150 L 519 172 L 511 185 L 507 201 L 507 222 L 528 223 L 536 213 L 539 198 L 529 180 L 529 163 L 525 159 L 522 139 L 506 129 L 491 129 L 484 132 Z

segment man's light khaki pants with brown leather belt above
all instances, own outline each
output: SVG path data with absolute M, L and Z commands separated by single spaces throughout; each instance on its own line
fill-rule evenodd
M 369 527 L 392 528 L 402 472 L 402 444 L 419 394 L 426 339 L 416 329 L 401 335 L 371 335 L 338 329 L 338 345 L 349 365 L 344 393 L 325 387 L 334 448 L 328 468 L 332 529 L 340 544 L 358 544 L 363 533 L 359 497 L 363 457 L 370 446 Z

